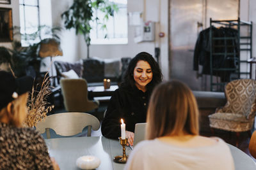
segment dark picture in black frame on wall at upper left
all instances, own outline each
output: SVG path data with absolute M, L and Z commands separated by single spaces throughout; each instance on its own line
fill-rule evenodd
M 13 41 L 12 8 L 0 8 L 0 42 Z

